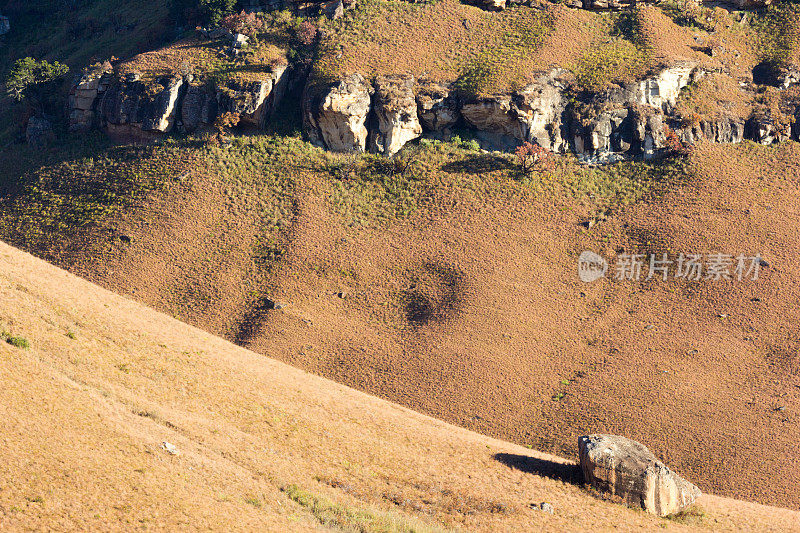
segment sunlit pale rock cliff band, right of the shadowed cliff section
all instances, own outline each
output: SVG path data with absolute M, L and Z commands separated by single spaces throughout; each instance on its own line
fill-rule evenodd
M 792 130 L 756 107 L 749 119 L 687 123 L 676 114 L 676 102 L 681 90 L 703 75 L 693 63 L 678 62 L 643 80 L 587 94 L 568 71 L 554 69 L 518 91 L 470 98 L 409 76 L 379 77 L 373 85 L 356 74 L 307 90 L 304 129 L 313 143 L 329 150 L 391 155 L 420 135 L 446 136 L 459 126 L 473 130 L 485 149 L 512 150 L 531 142 L 572 151 L 590 163 L 658 157 L 672 132 L 687 144 L 800 138 L 800 128 Z M 800 105 L 793 113 L 800 115 Z

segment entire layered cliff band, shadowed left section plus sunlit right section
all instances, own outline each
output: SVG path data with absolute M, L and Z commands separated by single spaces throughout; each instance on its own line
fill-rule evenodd
M 264 127 L 289 82 L 285 66 L 260 79 L 217 87 L 191 75 L 118 79 L 110 69 L 95 68 L 76 80 L 69 98 L 71 130 L 101 127 L 147 136 L 193 132 L 227 112 L 240 115 L 243 124 Z M 474 131 L 487 150 L 509 151 L 531 142 L 553 152 L 572 151 L 586 163 L 656 158 L 675 136 L 689 145 L 800 139 L 800 125 L 791 120 L 800 117 L 800 102 L 782 104 L 779 115 L 754 104 L 747 119 L 694 117 L 687 122 L 678 116 L 682 89 L 703 74 L 694 64 L 679 62 L 646 79 L 586 93 L 570 72 L 552 69 L 518 91 L 482 97 L 458 96 L 447 84 L 408 75 L 379 76 L 371 83 L 352 74 L 307 85 L 303 129 L 312 143 L 329 150 L 393 155 L 420 136 L 446 139 L 460 127 Z

